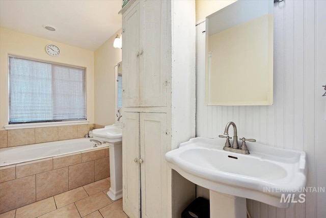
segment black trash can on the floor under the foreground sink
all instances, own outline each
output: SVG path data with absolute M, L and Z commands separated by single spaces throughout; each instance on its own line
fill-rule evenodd
M 198 197 L 182 211 L 181 218 L 209 218 L 209 201 Z

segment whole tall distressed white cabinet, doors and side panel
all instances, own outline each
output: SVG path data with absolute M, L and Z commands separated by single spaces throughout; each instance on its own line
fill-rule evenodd
M 123 209 L 180 217 L 195 185 L 165 154 L 195 137 L 195 1 L 130 0 L 121 13 Z

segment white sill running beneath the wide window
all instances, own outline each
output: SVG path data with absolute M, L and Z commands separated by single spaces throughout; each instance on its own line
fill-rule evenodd
M 75 121 L 45 122 L 45 123 L 31 123 L 31 124 L 9 124 L 9 125 L 5 126 L 5 129 L 6 130 L 16 130 L 16 129 L 57 127 L 57 126 L 80 125 L 80 124 L 89 124 L 89 121 L 88 120 L 75 120 Z

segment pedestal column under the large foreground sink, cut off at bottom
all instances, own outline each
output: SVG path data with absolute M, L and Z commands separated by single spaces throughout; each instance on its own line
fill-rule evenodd
M 245 198 L 227 195 L 209 190 L 210 217 L 246 218 L 247 202 Z

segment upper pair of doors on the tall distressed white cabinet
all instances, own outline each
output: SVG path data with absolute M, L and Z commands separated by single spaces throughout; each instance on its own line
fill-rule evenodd
M 137 1 L 122 16 L 123 105 L 167 106 L 167 2 Z

